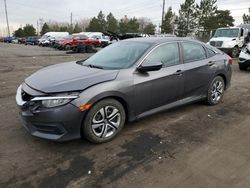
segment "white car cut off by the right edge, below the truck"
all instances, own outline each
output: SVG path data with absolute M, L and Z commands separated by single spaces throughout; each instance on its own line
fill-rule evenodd
M 241 50 L 238 64 L 240 70 L 247 70 L 250 67 L 250 43 Z

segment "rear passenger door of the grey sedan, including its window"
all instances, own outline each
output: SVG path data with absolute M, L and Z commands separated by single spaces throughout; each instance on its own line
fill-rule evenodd
M 200 43 L 182 42 L 181 45 L 185 71 L 184 98 L 204 95 L 217 70 L 216 60 L 207 56 Z

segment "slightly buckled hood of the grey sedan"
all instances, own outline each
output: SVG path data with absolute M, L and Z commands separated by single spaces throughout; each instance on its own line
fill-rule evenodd
M 44 93 L 79 91 L 114 80 L 118 72 L 119 70 L 102 70 L 69 62 L 43 68 L 26 78 L 25 83 Z

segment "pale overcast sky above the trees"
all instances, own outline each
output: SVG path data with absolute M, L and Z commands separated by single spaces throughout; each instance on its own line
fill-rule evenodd
M 116 18 L 148 17 L 154 24 L 161 21 L 162 0 L 6 0 L 11 31 L 20 25 L 33 24 L 39 18 L 45 21 L 69 22 L 96 16 L 100 10 L 106 15 L 112 12 Z M 172 6 L 178 12 L 184 0 L 166 0 L 166 9 Z M 199 2 L 199 0 L 196 0 Z M 250 0 L 217 0 L 219 9 L 228 9 L 235 19 L 235 25 L 242 23 L 243 13 L 248 13 Z M 4 0 L 0 0 L 0 35 L 6 32 Z

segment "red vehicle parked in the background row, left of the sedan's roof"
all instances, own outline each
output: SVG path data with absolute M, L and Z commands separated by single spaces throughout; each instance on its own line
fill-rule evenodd
M 59 42 L 59 49 L 70 50 L 72 47 L 78 46 L 81 43 L 95 47 L 100 46 L 100 41 L 97 39 L 88 38 L 86 35 L 70 35 Z

